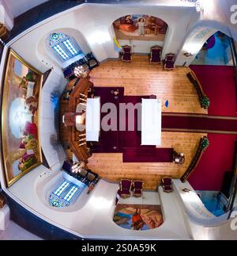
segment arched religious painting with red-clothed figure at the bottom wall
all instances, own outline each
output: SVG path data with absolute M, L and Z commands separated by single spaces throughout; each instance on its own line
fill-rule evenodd
M 114 222 L 126 229 L 149 230 L 164 223 L 160 205 L 117 204 Z

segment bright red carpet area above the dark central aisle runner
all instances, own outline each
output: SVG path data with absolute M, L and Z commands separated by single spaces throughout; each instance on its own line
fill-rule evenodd
M 237 110 L 234 68 L 225 66 L 191 65 L 209 97 L 210 116 L 235 117 Z

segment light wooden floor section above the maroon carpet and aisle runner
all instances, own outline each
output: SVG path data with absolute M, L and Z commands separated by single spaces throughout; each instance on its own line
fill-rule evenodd
M 150 64 L 148 56 L 133 56 L 132 63 L 121 60 L 108 60 L 90 73 L 94 86 L 122 86 L 125 95 L 155 94 L 163 105 L 169 101 L 169 107 L 163 106 L 162 112 L 201 113 L 198 95 L 186 74 L 187 67 L 176 67 L 173 71 L 164 71 L 161 64 Z

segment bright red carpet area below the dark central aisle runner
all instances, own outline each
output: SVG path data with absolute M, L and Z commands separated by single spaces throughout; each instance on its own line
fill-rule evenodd
M 210 145 L 188 181 L 196 190 L 220 191 L 224 172 L 233 168 L 237 136 L 209 134 L 208 138 Z

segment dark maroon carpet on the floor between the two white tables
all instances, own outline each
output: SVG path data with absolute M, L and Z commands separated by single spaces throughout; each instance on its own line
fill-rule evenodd
M 126 130 L 119 131 L 119 103 L 133 103 L 134 105 L 141 102 L 141 98 L 150 96 L 124 96 L 124 90 L 121 87 L 94 87 L 95 96 L 100 96 L 101 105 L 112 102 L 117 106 L 118 131 L 100 131 L 100 142 L 94 143 L 94 153 L 123 153 L 123 162 L 172 162 L 173 149 L 159 148 L 155 146 L 141 146 L 141 131 L 138 131 L 137 110 L 134 112 L 134 131 L 129 131 L 128 111 L 126 111 Z M 119 90 L 118 97 L 115 97 L 116 90 Z M 101 113 L 101 120 L 107 113 Z

